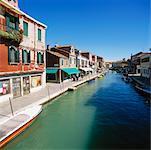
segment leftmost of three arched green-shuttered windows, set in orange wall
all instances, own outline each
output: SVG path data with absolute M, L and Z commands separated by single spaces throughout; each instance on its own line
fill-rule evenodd
M 19 50 L 14 46 L 9 47 L 8 61 L 9 63 L 19 63 Z

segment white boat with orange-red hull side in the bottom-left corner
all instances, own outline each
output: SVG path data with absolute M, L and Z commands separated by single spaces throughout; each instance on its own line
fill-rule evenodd
M 29 107 L 0 123 L 0 148 L 28 128 L 41 111 L 41 105 Z

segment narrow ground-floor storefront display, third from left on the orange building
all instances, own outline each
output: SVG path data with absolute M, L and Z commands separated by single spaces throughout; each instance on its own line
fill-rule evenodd
M 30 93 L 30 81 L 29 77 L 23 77 L 23 94 L 27 95 Z

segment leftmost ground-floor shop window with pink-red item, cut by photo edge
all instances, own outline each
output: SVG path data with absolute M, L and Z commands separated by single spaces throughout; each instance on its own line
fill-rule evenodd
M 10 93 L 10 81 L 1 80 L 0 81 L 0 96 Z

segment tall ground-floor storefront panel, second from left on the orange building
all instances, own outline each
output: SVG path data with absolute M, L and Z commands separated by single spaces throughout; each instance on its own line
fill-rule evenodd
M 13 79 L 13 97 L 21 96 L 21 79 L 14 78 Z

